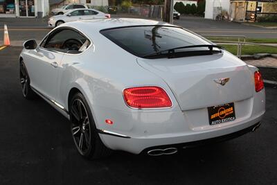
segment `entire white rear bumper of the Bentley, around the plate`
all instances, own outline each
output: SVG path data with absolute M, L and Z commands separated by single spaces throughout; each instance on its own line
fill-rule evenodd
M 265 114 L 265 90 L 256 93 L 253 98 L 236 102 L 235 110 L 235 121 L 217 125 L 208 124 L 206 108 L 183 112 L 165 110 L 131 113 L 111 112 L 98 107 L 95 113 L 98 115 L 97 127 L 111 131 L 111 134 L 99 134 L 105 146 L 139 154 L 164 146 L 189 147 L 224 141 L 251 131 Z M 114 120 L 114 125 L 100 124 L 100 120 L 107 117 Z

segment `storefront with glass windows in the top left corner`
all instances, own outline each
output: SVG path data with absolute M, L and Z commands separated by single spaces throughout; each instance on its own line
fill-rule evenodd
M 0 0 L 0 17 L 45 17 L 48 0 Z

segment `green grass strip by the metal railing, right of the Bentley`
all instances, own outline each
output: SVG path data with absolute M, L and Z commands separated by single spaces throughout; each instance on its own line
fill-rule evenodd
M 233 53 L 233 55 L 237 55 L 237 45 L 224 45 L 224 48 Z M 270 53 L 277 54 L 277 47 L 272 46 L 254 46 L 254 45 L 244 45 L 242 46 L 242 55 L 254 55 L 256 53 Z

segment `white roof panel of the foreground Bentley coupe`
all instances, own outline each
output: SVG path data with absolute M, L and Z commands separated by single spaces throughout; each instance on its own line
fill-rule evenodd
M 76 28 L 87 35 L 89 33 L 97 32 L 100 30 L 109 29 L 109 28 L 118 28 L 126 26 L 174 26 L 163 21 L 154 21 L 150 19 L 130 19 L 130 18 L 111 18 L 111 19 L 92 19 L 84 21 L 72 21 L 62 26 L 69 26 Z M 175 26 L 178 27 L 178 26 Z

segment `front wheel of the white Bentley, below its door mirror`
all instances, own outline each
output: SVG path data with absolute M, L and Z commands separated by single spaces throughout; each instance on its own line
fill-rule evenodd
M 22 94 L 27 100 L 33 100 L 37 97 L 37 94 L 30 88 L 30 77 L 23 61 L 20 62 L 19 69 Z

